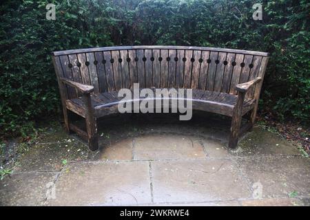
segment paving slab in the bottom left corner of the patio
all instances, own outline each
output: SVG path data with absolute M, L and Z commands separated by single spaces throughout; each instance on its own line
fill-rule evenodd
M 0 206 L 43 206 L 57 173 L 19 173 L 0 181 Z

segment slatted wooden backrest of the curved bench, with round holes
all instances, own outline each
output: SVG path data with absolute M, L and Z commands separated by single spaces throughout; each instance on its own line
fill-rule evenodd
M 94 86 L 94 92 L 131 88 L 204 89 L 236 94 L 238 83 L 265 74 L 268 54 L 183 46 L 96 47 L 53 52 L 57 77 Z M 260 85 L 249 92 L 260 93 Z M 259 91 L 258 91 L 259 90 Z M 79 94 L 70 87 L 62 98 Z

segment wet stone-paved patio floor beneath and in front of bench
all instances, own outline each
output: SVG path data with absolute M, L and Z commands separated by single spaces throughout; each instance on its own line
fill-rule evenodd
M 2 206 L 309 206 L 310 160 L 261 129 L 227 148 L 227 118 L 114 115 L 100 151 L 48 129 L 0 181 Z

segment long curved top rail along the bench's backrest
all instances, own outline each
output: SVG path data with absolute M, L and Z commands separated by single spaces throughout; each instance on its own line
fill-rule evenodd
M 205 51 L 214 51 L 214 52 L 227 52 L 234 54 L 251 54 L 258 56 L 269 56 L 269 53 L 266 52 L 256 52 L 249 50 L 235 50 L 235 49 L 225 49 L 225 48 L 216 48 L 216 47 L 190 47 L 190 46 L 118 46 L 118 47 L 94 47 L 87 49 L 78 49 L 78 50 L 64 50 L 53 52 L 54 56 L 67 55 L 67 54 L 78 54 L 78 53 L 87 53 L 87 52 L 104 52 L 110 50 L 205 50 Z

